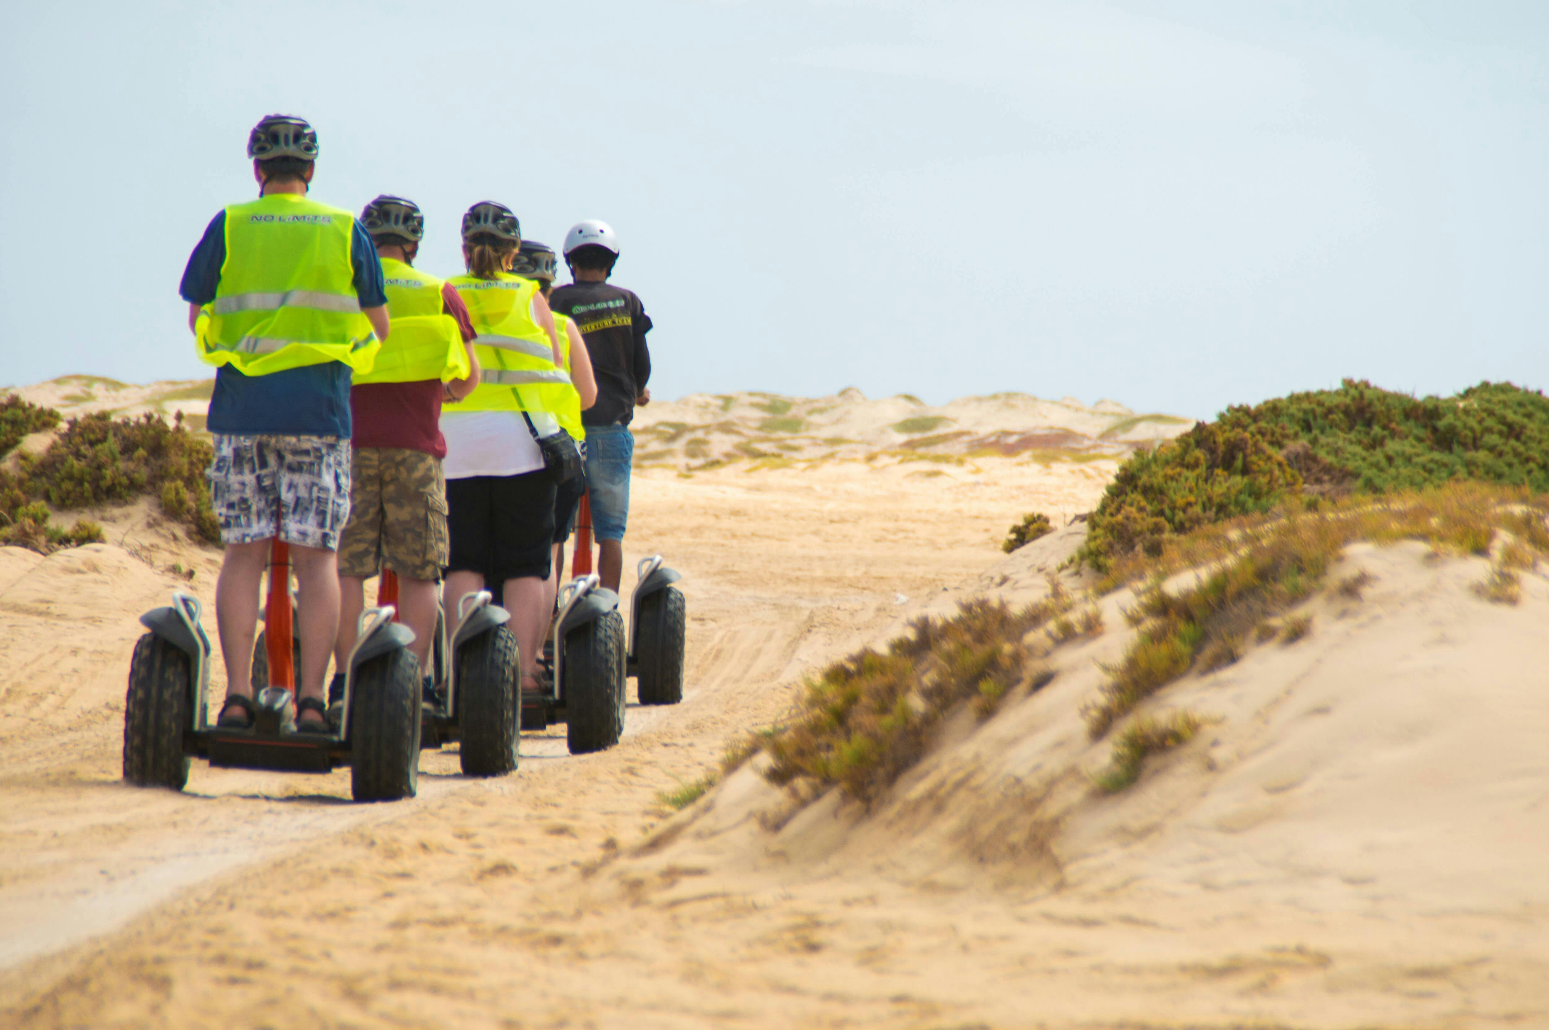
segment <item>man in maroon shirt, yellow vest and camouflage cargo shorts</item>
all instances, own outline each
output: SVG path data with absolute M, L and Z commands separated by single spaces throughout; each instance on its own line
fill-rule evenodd
M 398 616 L 414 630 L 410 651 L 429 671 L 435 637 L 437 581 L 446 565 L 446 440 L 443 400 L 462 400 L 479 384 L 474 327 L 451 283 L 414 266 L 424 215 L 403 197 L 366 204 L 361 225 L 383 263 L 392 336 L 376 366 L 355 376 L 350 458 L 350 520 L 339 542 L 339 637 L 330 708 L 344 700 L 344 669 L 366 609 L 366 581 L 386 565 L 398 575 Z M 426 697 L 434 685 L 426 675 Z

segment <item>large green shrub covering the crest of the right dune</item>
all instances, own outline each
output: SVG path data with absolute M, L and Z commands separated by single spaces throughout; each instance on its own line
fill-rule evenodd
M 1549 398 L 1509 383 L 1416 400 L 1346 379 L 1337 390 L 1228 407 L 1125 462 L 1087 522 L 1078 558 L 1100 572 L 1157 556 L 1202 525 L 1458 480 L 1549 491 Z

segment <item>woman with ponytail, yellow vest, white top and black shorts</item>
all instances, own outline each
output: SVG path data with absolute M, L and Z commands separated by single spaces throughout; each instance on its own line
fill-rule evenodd
M 511 612 L 522 686 L 538 689 L 555 534 L 555 476 L 538 438 L 558 434 L 559 423 L 534 387 L 570 379 L 538 283 L 511 274 L 520 243 L 510 208 L 474 204 L 463 215 L 468 273 L 448 280 L 468 305 L 480 372 L 466 398 L 441 407 L 446 607 L 455 610 L 460 598 L 488 584 Z

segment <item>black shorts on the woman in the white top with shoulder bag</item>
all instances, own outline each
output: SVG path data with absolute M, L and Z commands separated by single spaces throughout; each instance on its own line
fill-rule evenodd
M 507 579 L 548 579 L 555 536 L 555 480 L 522 476 L 446 480 L 448 572 L 477 572 L 499 596 Z

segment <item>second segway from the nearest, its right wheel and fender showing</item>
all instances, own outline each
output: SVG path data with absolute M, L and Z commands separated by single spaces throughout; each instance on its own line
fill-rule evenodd
M 517 767 L 517 655 L 510 621 L 511 613 L 493 604 L 488 590 L 459 598 L 451 638 L 445 598 L 437 613 L 438 640 L 431 644 L 437 689 L 424 699 L 421 733 L 432 748 L 460 740 L 465 776 L 505 776 Z

